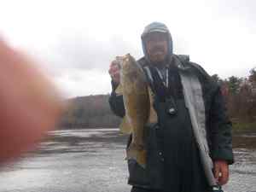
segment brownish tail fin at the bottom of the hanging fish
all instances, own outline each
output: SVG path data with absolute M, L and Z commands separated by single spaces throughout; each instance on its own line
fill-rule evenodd
M 126 160 L 136 160 L 137 164 L 146 168 L 146 154 L 147 151 L 144 148 L 137 148 L 131 143 L 130 147 L 127 149 Z

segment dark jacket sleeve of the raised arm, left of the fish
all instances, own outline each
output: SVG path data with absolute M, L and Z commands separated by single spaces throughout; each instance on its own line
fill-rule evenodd
M 113 81 L 111 81 L 111 84 L 112 84 L 112 92 L 108 99 L 110 108 L 115 115 L 123 118 L 125 116 L 125 106 L 124 106 L 123 96 L 116 95 L 114 91 L 117 88 L 118 84 L 115 84 Z

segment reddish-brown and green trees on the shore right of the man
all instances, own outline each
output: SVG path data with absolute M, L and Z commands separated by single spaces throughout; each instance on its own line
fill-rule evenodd
M 246 78 L 231 76 L 220 79 L 217 74 L 212 79 L 221 86 L 228 113 L 234 123 L 254 123 L 256 121 L 256 68 L 249 71 Z

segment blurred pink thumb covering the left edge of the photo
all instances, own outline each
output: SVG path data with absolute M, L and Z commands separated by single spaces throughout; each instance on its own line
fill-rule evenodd
M 34 148 L 54 129 L 61 105 L 49 79 L 0 40 L 0 166 Z

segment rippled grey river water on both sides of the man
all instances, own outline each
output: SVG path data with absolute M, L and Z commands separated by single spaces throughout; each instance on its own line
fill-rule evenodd
M 256 192 L 256 134 L 234 136 L 228 192 Z M 52 131 L 37 151 L 2 168 L 0 192 L 130 191 L 117 129 Z

